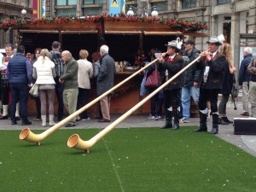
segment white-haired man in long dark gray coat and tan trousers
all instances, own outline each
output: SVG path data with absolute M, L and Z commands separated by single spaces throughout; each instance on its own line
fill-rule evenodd
M 101 69 L 99 76 L 97 77 L 97 95 L 101 96 L 106 91 L 113 88 L 113 80 L 115 73 L 115 65 L 113 58 L 108 55 L 108 46 L 102 45 L 100 49 L 101 53 Z M 102 119 L 99 122 L 110 122 L 110 98 L 111 95 L 104 96 L 100 100 L 102 109 Z

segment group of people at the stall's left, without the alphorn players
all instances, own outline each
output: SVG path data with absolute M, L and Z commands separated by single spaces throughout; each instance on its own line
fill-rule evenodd
M 11 120 L 16 125 L 21 118 L 21 125 L 31 125 L 27 117 L 27 101 L 32 84 L 38 85 L 38 96 L 33 96 L 37 116 L 34 120 L 42 121 L 42 126 L 55 125 L 55 96 L 58 100 L 57 120 L 64 115 L 64 106 L 72 114 L 89 102 L 90 79 L 96 79 L 97 95 L 111 89 L 114 84 L 115 64 L 108 55 L 108 46 L 102 45 L 98 56 L 94 57 L 97 70 L 87 60 L 86 49 L 79 51 L 76 61 L 69 50 L 61 51 L 61 44 L 53 42 L 52 49 L 35 49 L 35 59 L 26 54 L 25 47 L 18 45 L 16 52 L 12 44 L 5 46 L 6 56 L 1 62 L 1 102 L 3 114 L 0 119 Z M 100 100 L 102 119 L 99 122 L 110 122 L 110 98 L 103 96 Z M 9 110 L 10 101 L 10 110 Z M 9 115 L 10 111 L 10 115 Z M 84 111 L 72 119 L 66 127 L 76 126 L 76 121 L 90 119 Z

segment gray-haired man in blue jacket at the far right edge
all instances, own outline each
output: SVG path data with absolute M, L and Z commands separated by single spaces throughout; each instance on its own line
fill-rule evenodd
M 239 77 L 238 83 L 239 87 L 242 90 L 242 116 L 249 116 L 249 108 L 248 108 L 248 81 L 249 81 L 249 74 L 247 73 L 247 67 L 252 60 L 253 49 L 251 47 L 245 47 L 243 49 L 242 55 L 243 60 L 241 61 L 241 65 L 239 67 Z

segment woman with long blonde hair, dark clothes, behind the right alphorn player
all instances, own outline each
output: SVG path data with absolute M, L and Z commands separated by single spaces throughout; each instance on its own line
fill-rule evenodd
M 227 117 L 226 107 L 227 107 L 227 102 L 229 101 L 229 98 L 230 98 L 230 93 L 233 85 L 233 78 L 235 75 L 234 73 L 236 73 L 236 67 L 234 67 L 232 63 L 230 44 L 222 44 L 222 46 L 220 47 L 220 53 L 225 55 L 226 64 L 224 66 L 224 76 L 223 76 L 223 83 L 222 83 L 223 89 L 221 90 L 222 97 L 218 105 L 218 118 L 219 118 L 219 124 L 229 125 L 230 123 L 233 123 L 233 122 L 230 121 Z

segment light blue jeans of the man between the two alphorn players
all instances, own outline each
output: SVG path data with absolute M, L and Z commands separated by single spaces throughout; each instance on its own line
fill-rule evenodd
M 189 120 L 190 117 L 190 96 L 193 97 L 195 104 L 198 105 L 199 90 L 199 88 L 195 88 L 194 86 L 182 88 L 182 107 L 184 119 Z

